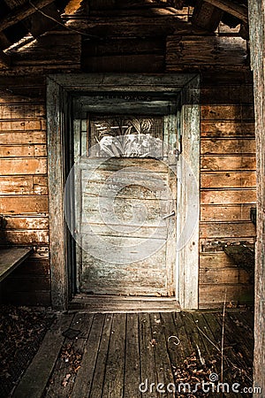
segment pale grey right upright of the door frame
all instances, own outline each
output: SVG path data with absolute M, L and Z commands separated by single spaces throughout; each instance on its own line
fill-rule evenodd
M 180 160 L 180 179 L 178 178 L 178 233 L 184 231 L 186 225 L 185 213 L 192 210 L 190 219 L 193 231 L 190 236 L 182 233 L 178 243 L 180 249 L 177 256 L 177 297 L 182 309 L 198 308 L 199 287 L 199 179 L 200 179 L 200 105 L 199 77 L 195 77 L 184 88 L 182 107 L 182 146 Z M 192 172 L 188 170 L 191 167 Z M 191 179 L 191 176 L 192 179 Z M 187 194 L 188 192 L 188 194 Z M 191 217 L 191 215 L 190 215 Z M 191 232 L 191 231 L 189 231 Z M 189 264 L 187 267 L 186 264 Z

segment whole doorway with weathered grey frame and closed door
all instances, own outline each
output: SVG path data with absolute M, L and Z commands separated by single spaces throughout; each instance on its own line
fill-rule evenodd
M 53 75 L 48 142 L 53 306 L 83 292 L 197 308 L 199 230 L 188 211 L 199 209 L 198 76 Z

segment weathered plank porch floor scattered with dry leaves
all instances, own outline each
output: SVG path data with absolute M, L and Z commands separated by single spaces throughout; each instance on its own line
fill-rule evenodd
M 223 382 L 229 394 L 173 393 L 170 383 L 178 391 L 181 382 L 193 389 L 202 380 L 221 381 L 222 329 Z M 252 386 L 252 361 L 248 310 L 226 310 L 224 318 L 222 311 L 69 312 L 57 315 L 12 397 L 246 397 L 252 395 L 233 393 L 231 387 Z

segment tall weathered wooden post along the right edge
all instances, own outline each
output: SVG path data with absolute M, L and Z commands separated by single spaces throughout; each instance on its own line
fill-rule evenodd
M 261 388 L 253 396 L 260 397 L 265 394 L 265 0 L 249 0 L 248 7 L 257 148 L 254 388 Z

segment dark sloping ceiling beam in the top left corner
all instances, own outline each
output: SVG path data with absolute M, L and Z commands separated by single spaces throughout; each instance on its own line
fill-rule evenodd
M 6 15 L 6 17 L 0 19 L 0 32 L 34 14 L 36 9 L 41 10 L 43 7 L 46 7 L 53 2 L 54 0 L 34 0 L 32 4 L 27 3 L 19 7 L 17 10 L 11 11 Z

